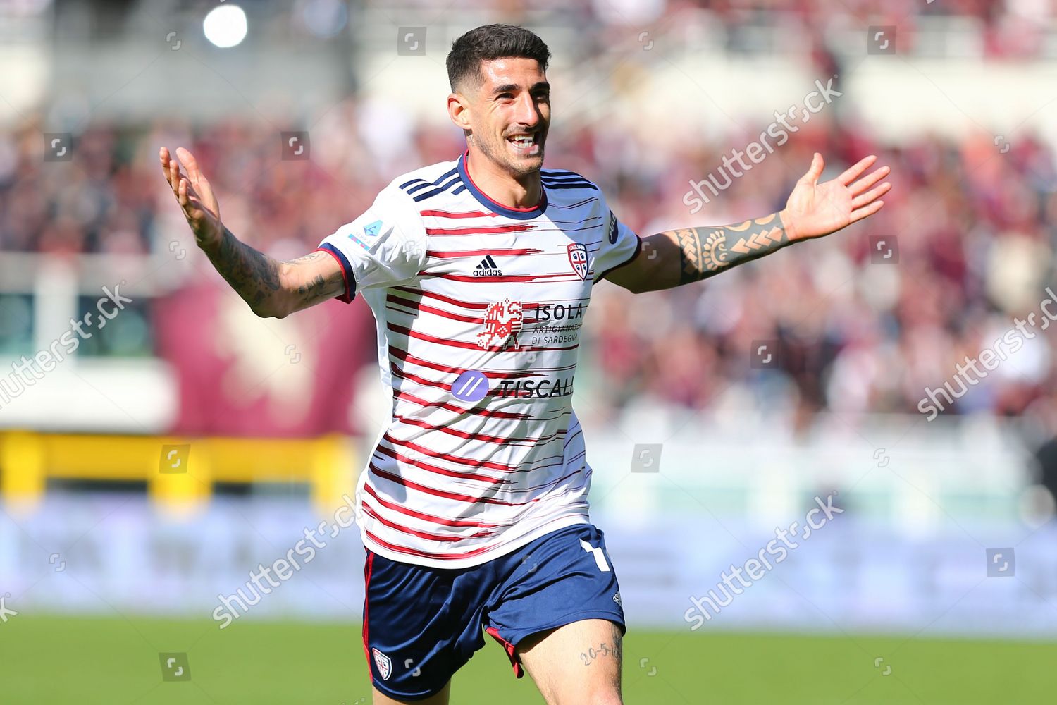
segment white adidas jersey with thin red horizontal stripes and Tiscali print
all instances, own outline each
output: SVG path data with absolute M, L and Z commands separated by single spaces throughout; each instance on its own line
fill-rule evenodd
M 591 467 L 573 376 L 591 287 L 641 241 L 597 186 L 543 170 L 509 208 L 475 186 L 467 153 L 395 179 L 319 245 L 378 329 L 392 394 L 356 489 L 364 544 L 461 568 L 588 523 Z

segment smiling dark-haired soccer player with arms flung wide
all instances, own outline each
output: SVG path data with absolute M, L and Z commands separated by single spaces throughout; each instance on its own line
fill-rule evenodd
M 240 242 L 193 155 L 177 150 L 184 172 L 160 151 L 198 245 L 257 315 L 357 294 L 374 312 L 392 420 L 356 503 L 375 703 L 446 704 L 482 631 L 548 703 L 620 703 L 624 611 L 571 405 L 594 285 L 706 279 L 875 214 L 890 188 L 887 167 L 863 175 L 872 155 L 818 183 L 815 154 L 780 212 L 641 238 L 590 180 L 542 168 L 550 56 L 503 24 L 456 40 L 447 109 L 466 151 L 397 177 L 293 261 Z

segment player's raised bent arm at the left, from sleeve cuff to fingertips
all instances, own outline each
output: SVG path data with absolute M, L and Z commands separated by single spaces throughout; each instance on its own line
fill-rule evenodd
M 341 266 L 327 253 L 280 262 L 240 242 L 221 223 L 220 204 L 194 156 L 182 147 L 177 156 L 187 168 L 186 175 L 168 149 L 159 151 L 165 179 L 194 233 L 194 241 L 255 314 L 282 318 L 345 292 Z

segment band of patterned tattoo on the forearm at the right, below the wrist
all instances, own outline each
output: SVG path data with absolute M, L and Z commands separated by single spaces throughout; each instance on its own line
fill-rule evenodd
M 791 244 L 778 214 L 737 225 L 669 230 L 680 247 L 680 284 L 769 255 Z

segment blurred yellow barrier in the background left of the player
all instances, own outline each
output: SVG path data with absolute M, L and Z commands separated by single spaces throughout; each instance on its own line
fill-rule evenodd
M 353 489 L 352 442 L 318 439 L 183 439 L 0 432 L 0 494 L 36 504 L 49 479 L 142 481 L 167 508 L 201 506 L 215 482 L 303 482 L 321 513 Z

